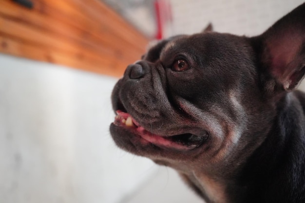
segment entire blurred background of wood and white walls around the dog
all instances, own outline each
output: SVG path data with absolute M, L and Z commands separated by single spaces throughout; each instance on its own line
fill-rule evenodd
M 209 22 L 255 36 L 302 2 L 1 0 L 0 203 L 202 202 L 115 146 L 112 88 L 150 41 Z

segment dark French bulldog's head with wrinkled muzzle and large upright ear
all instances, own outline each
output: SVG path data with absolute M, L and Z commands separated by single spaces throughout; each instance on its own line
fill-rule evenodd
M 304 19 L 305 4 L 258 37 L 209 31 L 160 41 L 114 87 L 115 143 L 180 171 L 238 166 L 304 76 Z

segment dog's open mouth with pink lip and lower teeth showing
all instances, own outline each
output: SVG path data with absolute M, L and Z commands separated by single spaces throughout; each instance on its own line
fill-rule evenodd
M 151 143 L 162 148 L 191 150 L 201 146 L 208 138 L 207 132 L 200 133 L 200 135 L 192 133 L 171 136 L 156 135 L 140 126 L 129 113 L 120 110 L 117 110 L 116 113 L 114 125 L 128 129 L 134 136 L 140 136 L 142 138 L 142 143 Z

